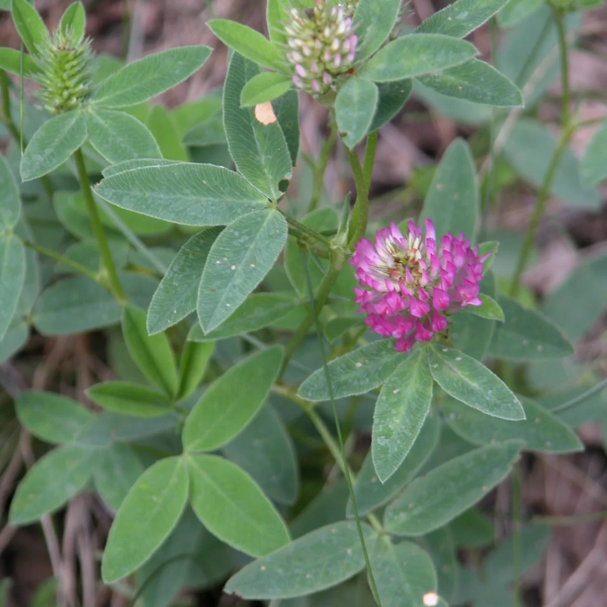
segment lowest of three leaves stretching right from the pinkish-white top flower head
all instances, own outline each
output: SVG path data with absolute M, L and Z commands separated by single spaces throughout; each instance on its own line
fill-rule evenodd
M 488 106 L 523 106 L 523 95 L 517 86 L 495 67 L 479 59 L 470 59 L 440 73 L 419 76 L 418 80 L 447 97 Z

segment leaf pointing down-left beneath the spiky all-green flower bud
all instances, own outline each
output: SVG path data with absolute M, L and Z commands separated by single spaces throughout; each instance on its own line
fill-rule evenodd
M 21 0 L 22 1 L 22 0 Z M 63 164 L 86 140 L 82 110 L 60 114 L 35 132 L 21 157 L 23 181 L 38 179 Z

